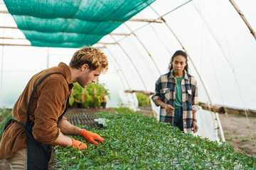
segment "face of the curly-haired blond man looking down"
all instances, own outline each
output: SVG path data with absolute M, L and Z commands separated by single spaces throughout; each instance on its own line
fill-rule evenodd
M 102 72 L 102 67 L 99 67 L 95 70 L 90 70 L 87 64 L 84 64 L 81 68 L 80 76 L 77 79 L 78 84 L 82 86 L 82 88 L 86 88 L 92 83 L 97 81 L 97 77 L 100 76 Z

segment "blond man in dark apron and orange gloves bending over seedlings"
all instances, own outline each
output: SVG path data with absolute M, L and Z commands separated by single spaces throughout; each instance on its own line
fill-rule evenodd
M 68 123 L 63 117 L 73 83 L 86 88 L 107 72 L 107 57 L 93 47 L 75 52 L 69 65 L 45 69 L 35 74 L 13 108 L 13 120 L 0 143 L 0 159 L 11 169 L 48 169 L 51 145 L 85 149 L 86 145 L 66 135 L 80 135 L 99 145 L 103 138 Z

